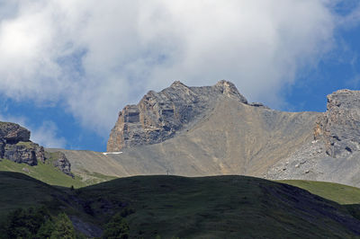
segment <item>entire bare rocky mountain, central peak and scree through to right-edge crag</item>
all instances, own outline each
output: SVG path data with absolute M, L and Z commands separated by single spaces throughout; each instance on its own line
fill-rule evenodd
M 108 154 L 60 151 L 75 173 L 241 174 L 359 187 L 359 122 L 359 91 L 329 94 L 326 112 L 284 112 L 247 102 L 227 81 L 175 82 L 120 111 Z

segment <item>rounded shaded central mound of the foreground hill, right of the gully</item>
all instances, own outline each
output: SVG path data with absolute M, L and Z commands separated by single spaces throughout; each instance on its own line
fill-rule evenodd
M 128 217 L 132 237 L 348 237 L 348 226 L 360 234 L 360 221 L 337 203 L 251 177 L 139 176 L 80 191 L 99 218 L 106 218 L 103 201 L 134 208 Z

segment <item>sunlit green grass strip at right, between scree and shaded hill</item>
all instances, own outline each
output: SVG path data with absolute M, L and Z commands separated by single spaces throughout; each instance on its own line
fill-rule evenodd
M 325 181 L 286 180 L 280 182 L 308 190 L 339 204 L 360 204 L 360 189 L 356 187 Z

